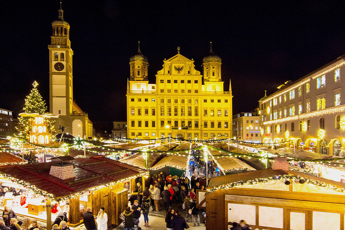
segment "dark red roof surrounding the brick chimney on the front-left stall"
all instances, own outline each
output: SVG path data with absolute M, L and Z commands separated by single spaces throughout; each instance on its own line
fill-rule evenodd
M 76 159 L 64 163 L 74 165 L 75 178 L 61 180 L 49 175 L 51 162 L 4 165 L 0 166 L 0 172 L 35 185 L 38 189 L 53 194 L 55 197 L 65 197 L 75 192 L 81 192 L 146 172 L 146 170 L 104 156 Z

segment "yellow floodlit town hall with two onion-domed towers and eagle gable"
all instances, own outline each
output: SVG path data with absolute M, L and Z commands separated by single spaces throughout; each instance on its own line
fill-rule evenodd
M 127 136 L 153 139 L 210 139 L 232 136 L 232 94 L 224 91 L 221 58 L 212 48 L 203 75 L 194 60 L 177 54 L 163 61 L 156 84 L 148 81 L 148 58 L 140 48 L 130 57 L 127 83 Z M 203 79 L 204 76 L 204 79 Z

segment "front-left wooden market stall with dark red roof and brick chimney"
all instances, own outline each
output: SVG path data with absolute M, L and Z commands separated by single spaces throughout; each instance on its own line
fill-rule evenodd
M 108 228 L 118 225 L 119 214 L 127 207 L 128 190 L 124 184 L 135 186 L 135 178 L 148 171 L 111 160 L 104 156 L 75 159 L 61 163 L 49 162 L 28 165 L 0 166 L 0 180 L 10 187 L 28 193 L 28 207 L 20 205 L 20 196 L 5 195 L 3 205 L 10 205 L 27 228 L 32 219 L 41 224 L 41 230 L 50 230 L 56 214 L 53 204 L 64 210 L 69 203 L 68 222 L 71 229 L 83 229 L 83 212 L 92 208 L 97 215 L 100 207 L 108 214 Z M 9 186 L 9 185 L 8 185 Z M 30 197 L 30 198 L 29 198 Z M 7 199 L 8 198 L 8 199 Z M 55 205 L 54 205 L 55 206 Z M 58 208 L 59 206 L 59 208 Z M 49 223 L 49 224 L 48 224 Z

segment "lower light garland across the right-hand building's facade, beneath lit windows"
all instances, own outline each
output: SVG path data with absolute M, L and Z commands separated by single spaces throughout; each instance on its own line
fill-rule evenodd
M 334 114 L 334 113 L 341 113 L 341 112 L 345 112 L 345 105 L 321 109 L 318 111 L 303 113 L 303 114 L 299 114 L 295 116 L 284 117 L 284 118 L 280 118 L 280 119 L 276 119 L 272 121 L 266 121 L 264 122 L 264 125 L 269 125 L 269 124 L 274 124 L 274 123 L 284 123 L 284 122 L 298 120 L 298 119 L 306 119 L 309 117 L 322 116 L 326 114 Z M 344 125 L 345 125 L 345 121 L 344 121 Z

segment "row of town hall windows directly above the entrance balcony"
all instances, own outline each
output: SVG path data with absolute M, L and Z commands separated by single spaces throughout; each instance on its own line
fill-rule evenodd
M 222 128 L 221 125 L 222 122 L 204 122 L 204 128 L 214 128 L 215 124 L 217 128 Z M 138 121 L 138 126 L 137 127 L 149 127 L 149 121 L 144 121 L 144 123 L 142 121 Z M 166 125 L 171 126 L 171 121 L 167 121 L 167 123 L 165 123 L 165 121 L 160 121 L 160 127 L 165 127 Z M 203 126 L 203 125 L 201 125 Z M 131 121 L 131 127 L 136 127 L 135 126 L 135 121 Z M 156 121 L 151 121 L 151 127 L 156 127 Z M 179 126 L 179 122 L 178 121 L 174 121 L 174 127 L 192 127 L 192 121 L 187 121 L 187 126 L 186 126 L 186 122 L 185 121 L 180 121 L 180 126 Z M 224 128 L 228 128 L 228 122 L 224 122 Z M 194 128 L 199 128 L 199 121 L 194 121 Z

